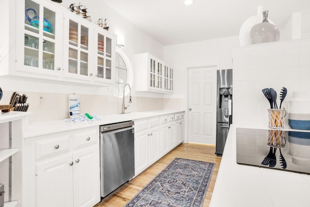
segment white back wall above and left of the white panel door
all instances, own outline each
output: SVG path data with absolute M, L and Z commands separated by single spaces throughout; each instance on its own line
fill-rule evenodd
M 173 95 L 165 97 L 178 98 L 182 100 L 181 106 L 185 107 L 187 68 L 209 64 L 218 64 L 219 69 L 232 68 L 232 48 L 238 46 L 240 46 L 239 36 L 165 46 L 164 61 L 173 65 L 176 85 Z M 173 105 L 175 103 L 171 103 L 170 106 L 167 104 L 166 107 Z

